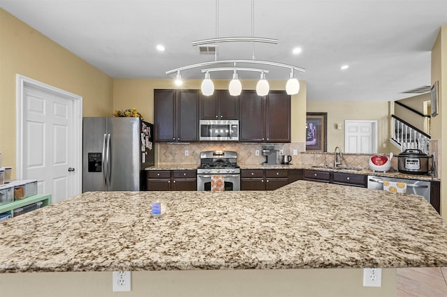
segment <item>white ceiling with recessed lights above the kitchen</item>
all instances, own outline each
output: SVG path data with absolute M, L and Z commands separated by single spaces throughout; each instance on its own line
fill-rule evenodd
M 430 85 L 430 51 L 447 24 L 446 0 L 255 0 L 254 10 L 251 3 L 219 1 L 219 22 L 212 0 L 0 0 L 0 7 L 115 78 L 167 78 L 168 70 L 213 61 L 191 41 L 215 38 L 217 24 L 219 37 L 277 38 L 278 45 L 256 43 L 256 59 L 306 68 L 296 76 L 307 81 L 308 100 L 413 96 L 401 92 Z M 294 47 L 302 53 L 293 55 Z M 252 59 L 252 45 L 221 43 L 218 59 Z M 267 79 L 288 78 L 286 68 L 269 69 Z M 202 77 L 200 68 L 182 73 Z

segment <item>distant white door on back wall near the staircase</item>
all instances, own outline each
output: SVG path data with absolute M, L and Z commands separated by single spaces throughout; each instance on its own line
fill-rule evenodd
M 346 153 L 377 153 L 377 121 L 344 121 Z

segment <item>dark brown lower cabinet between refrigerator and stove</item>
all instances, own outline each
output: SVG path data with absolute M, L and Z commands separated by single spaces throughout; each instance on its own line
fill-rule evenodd
M 195 191 L 196 170 L 149 170 L 148 191 Z

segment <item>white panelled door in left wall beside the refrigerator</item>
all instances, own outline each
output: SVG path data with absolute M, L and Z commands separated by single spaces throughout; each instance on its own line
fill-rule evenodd
M 51 194 L 53 203 L 80 194 L 75 105 L 64 91 L 23 84 L 20 179 L 36 179 L 38 192 Z

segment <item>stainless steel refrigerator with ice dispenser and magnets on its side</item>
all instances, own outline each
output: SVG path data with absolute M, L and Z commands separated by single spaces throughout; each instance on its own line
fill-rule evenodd
M 140 118 L 84 118 L 82 192 L 146 190 L 154 125 Z

